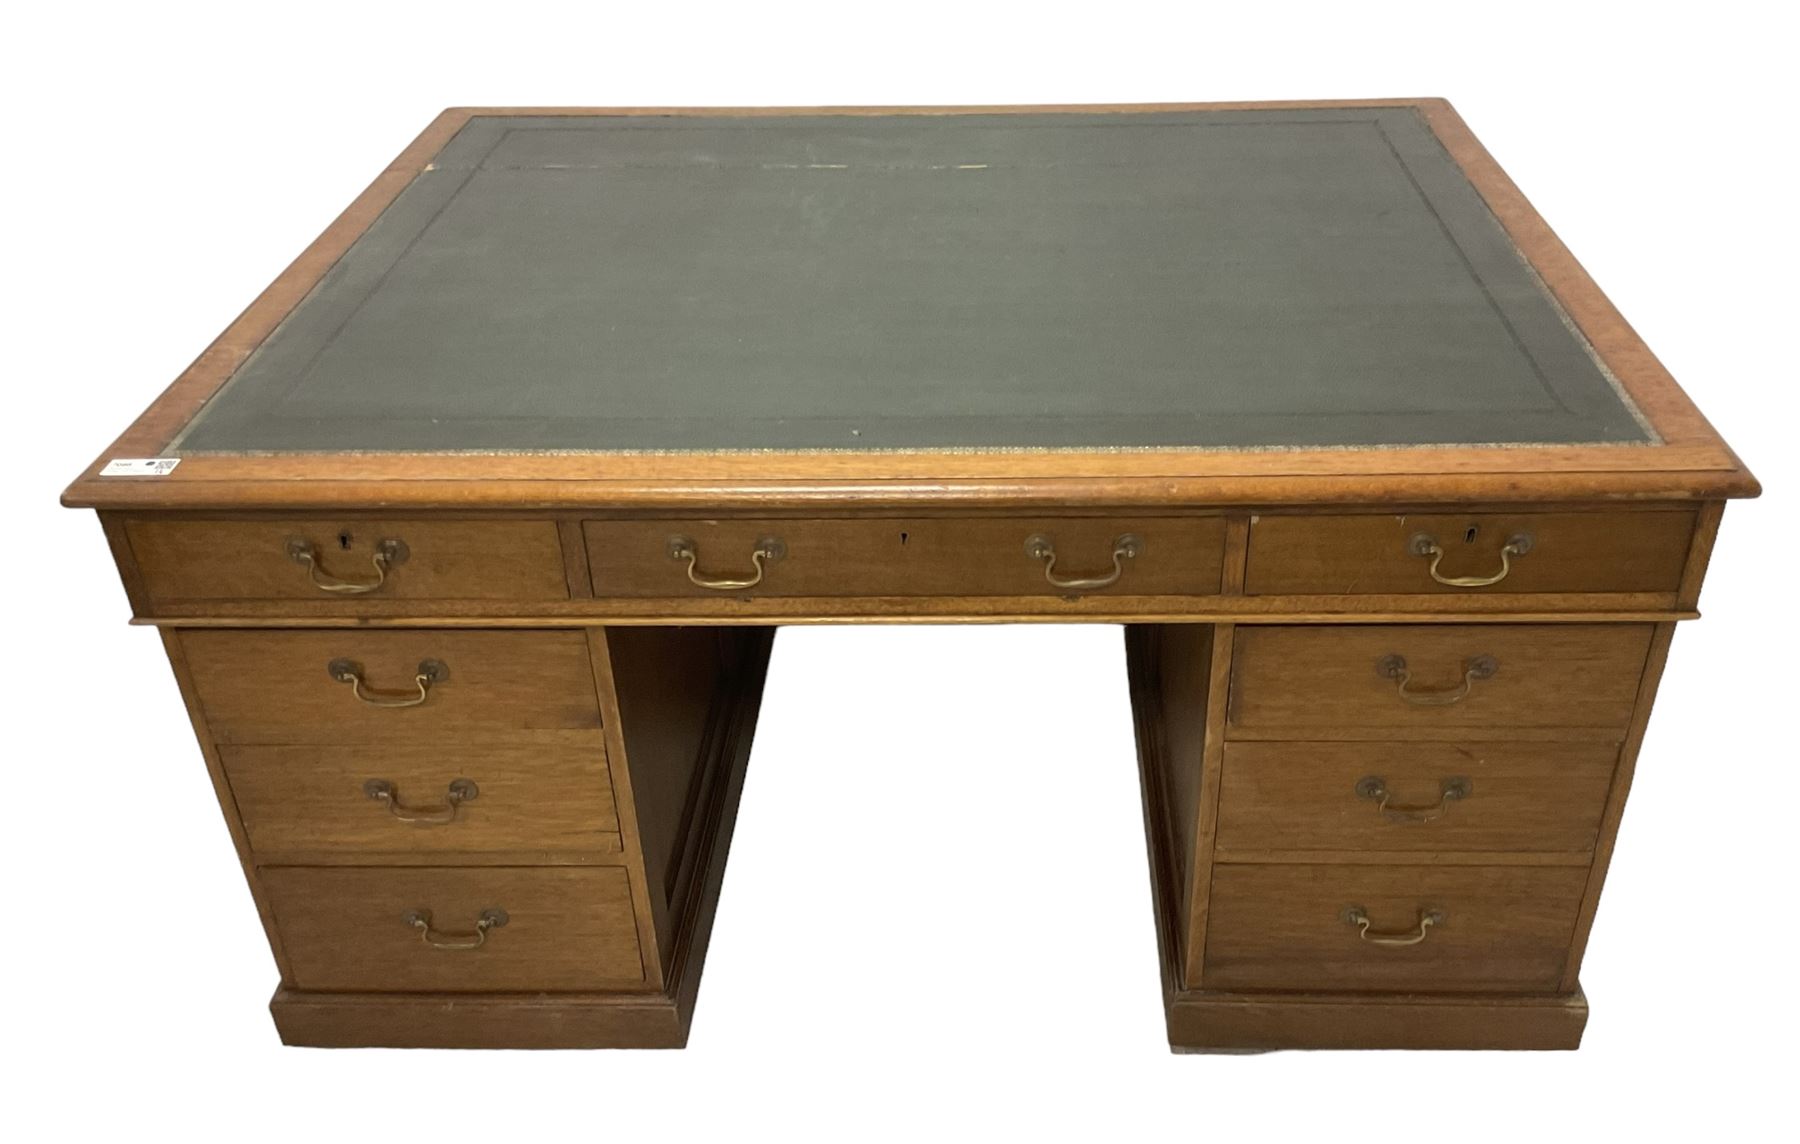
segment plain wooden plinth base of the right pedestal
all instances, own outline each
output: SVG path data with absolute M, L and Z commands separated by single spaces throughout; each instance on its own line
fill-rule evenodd
M 1175 1052 L 1269 1049 L 1577 1049 L 1588 998 L 1174 993 Z

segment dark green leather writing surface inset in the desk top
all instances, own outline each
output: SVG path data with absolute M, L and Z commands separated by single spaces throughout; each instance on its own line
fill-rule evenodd
M 176 451 L 1647 439 L 1368 108 L 477 117 Z

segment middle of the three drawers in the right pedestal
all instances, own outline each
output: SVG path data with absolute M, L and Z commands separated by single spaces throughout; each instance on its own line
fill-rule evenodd
M 1611 743 L 1228 743 L 1220 851 L 1589 853 Z

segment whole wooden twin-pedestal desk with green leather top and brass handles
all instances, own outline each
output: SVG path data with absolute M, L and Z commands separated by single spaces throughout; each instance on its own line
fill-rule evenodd
M 65 502 L 290 1043 L 684 1043 L 774 628 L 956 621 L 1125 626 L 1172 1045 L 1568 1049 L 1757 491 L 1372 101 L 446 112 Z

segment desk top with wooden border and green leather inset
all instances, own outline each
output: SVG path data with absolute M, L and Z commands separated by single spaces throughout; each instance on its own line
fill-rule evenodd
M 182 464 L 97 475 L 115 457 Z M 455 110 L 65 500 L 1391 498 L 1382 478 L 1755 491 L 1442 101 Z

